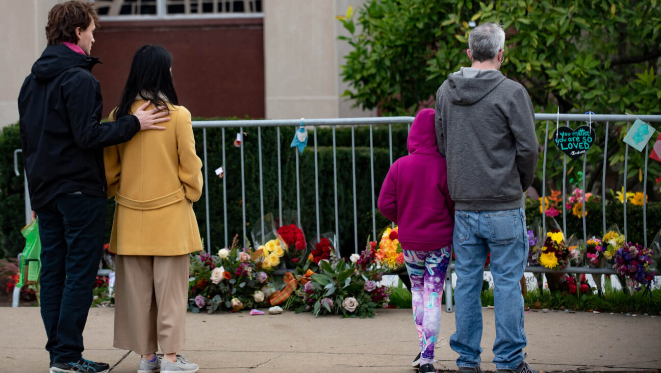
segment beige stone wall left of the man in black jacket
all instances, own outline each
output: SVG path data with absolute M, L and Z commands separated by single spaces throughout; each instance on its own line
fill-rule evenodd
M 17 98 L 46 48 L 48 11 L 57 0 L 0 0 L 0 127 L 19 121 Z

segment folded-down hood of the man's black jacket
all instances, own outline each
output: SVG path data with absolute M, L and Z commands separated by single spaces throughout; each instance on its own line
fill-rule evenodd
M 91 70 L 97 63 L 98 58 L 76 53 L 64 44 L 47 46 L 32 65 L 32 75 L 38 81 L 50 81 L 72 67 Z

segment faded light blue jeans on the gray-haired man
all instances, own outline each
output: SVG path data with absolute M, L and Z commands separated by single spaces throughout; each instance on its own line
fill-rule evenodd
M 524 297 L 521 277 L 528 257 L 523 207 L 504 211 L 455 211 L 455 324 L 450 347 L 459 354 L 457 366 L 475 368 L 481 359 L 482 290 L 487 252 L 494 279 L 496 369 L 514 370 L 523 360 Z

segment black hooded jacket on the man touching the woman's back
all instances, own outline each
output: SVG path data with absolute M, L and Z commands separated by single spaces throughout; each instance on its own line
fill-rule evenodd
M 48 46 L 20 88 L 20 141 L 32 209 L 61 193 L 106 197 L 103 148 L 130 140 L 135 116 L 100 123 L 98 59 Z

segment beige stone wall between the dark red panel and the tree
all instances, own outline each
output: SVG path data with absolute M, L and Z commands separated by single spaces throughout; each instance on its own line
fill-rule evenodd
M 335 19 L 362 0 L 264 1 L 266 118 L 374 116 L 340 98 L 340 78 L 348 44 Z

